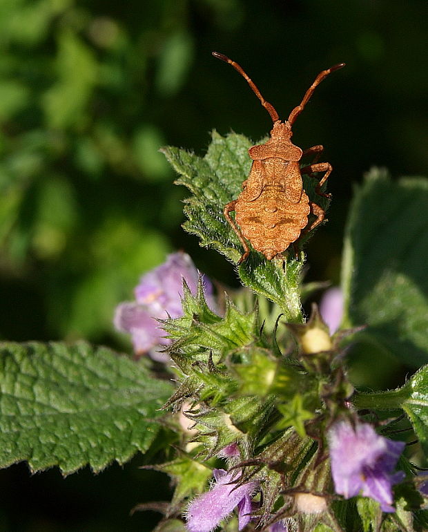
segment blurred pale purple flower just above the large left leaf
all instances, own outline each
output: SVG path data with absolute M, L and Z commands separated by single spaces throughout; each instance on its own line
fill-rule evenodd
M 169 345 L 171 340 L 164 337 L 165 332 L 157 319 L 183 315 L 183 279 L 195 295 L 199 272 L 192 259 L 182 252 L 168 255 L 164 264 L 142 276 L 135 288 L 136 301 L 117 306 L 115 327 L 131 334 L 136 354 L 148 352 L 151 357 L 165 361 L 166 357 L 158 352 L 159 346 Z M 206 278 L 203 281 L 206 301 L 215 309 L 213 287 Z

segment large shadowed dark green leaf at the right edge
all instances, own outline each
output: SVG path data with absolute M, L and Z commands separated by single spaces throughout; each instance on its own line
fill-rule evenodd
M 428 361 L 428 180 L 373 169 L 356 191 L 344 240 L 345 327 L 407 365 Z

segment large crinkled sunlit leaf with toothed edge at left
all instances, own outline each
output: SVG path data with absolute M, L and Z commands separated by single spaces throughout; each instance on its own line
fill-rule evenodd
M 172 387 L 142 362 L 84 342 L 0 348 L 0 467 L 100 471 L 152 444 Z

